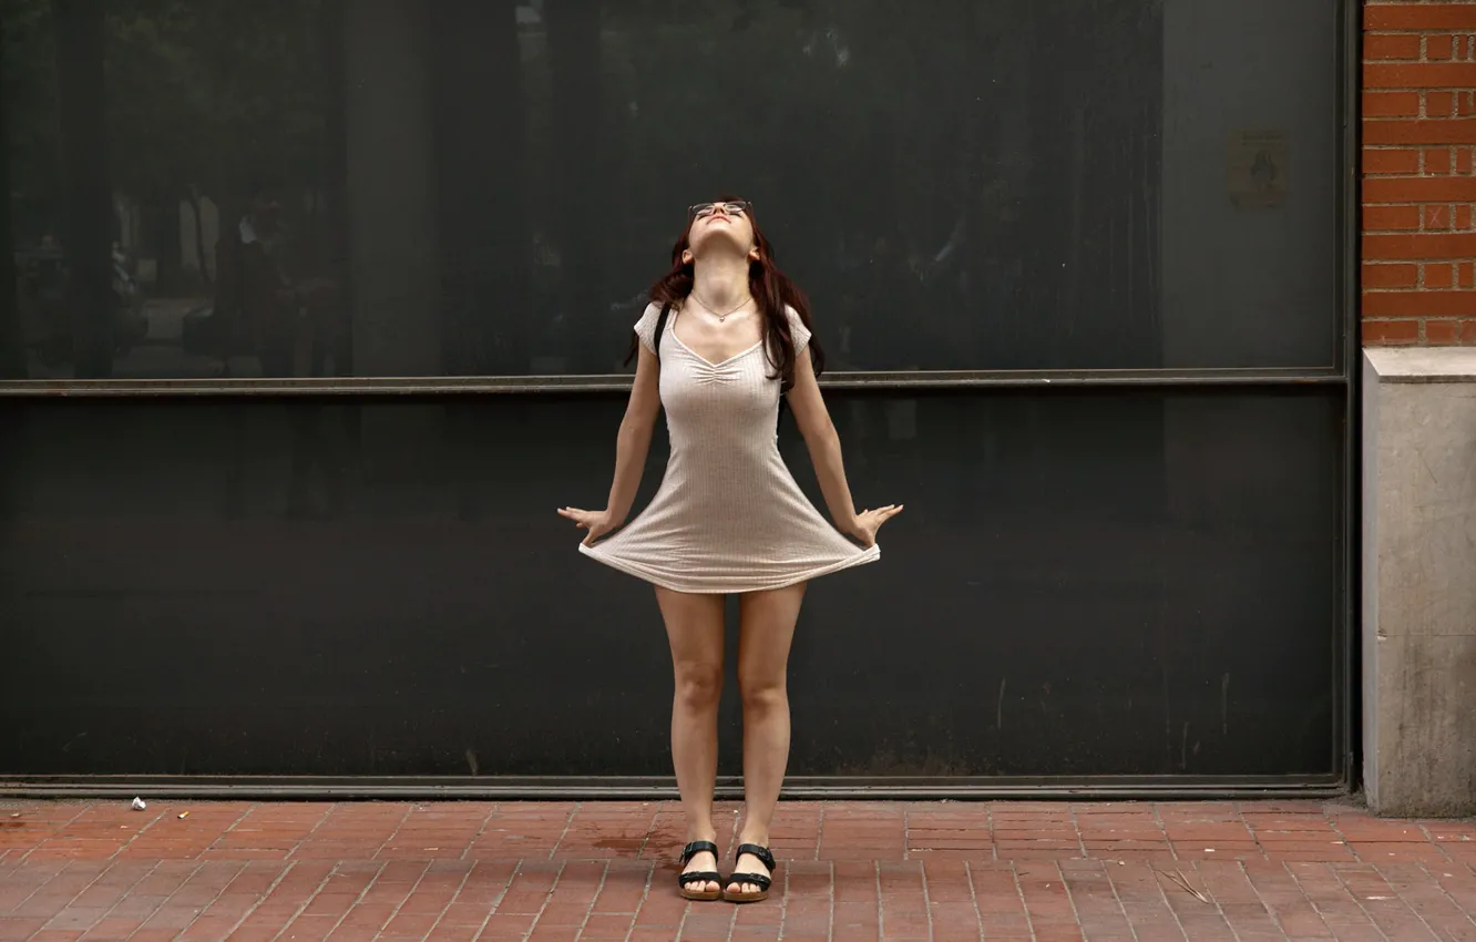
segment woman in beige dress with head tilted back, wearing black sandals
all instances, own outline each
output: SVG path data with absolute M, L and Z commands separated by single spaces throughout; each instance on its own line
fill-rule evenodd
M 691 207 L 672 270 L 649 295 L 635 325 L 639 362 L 610 499 L 602 511 L 565 506 L 559 515 L 586 530 L 582 552 L 655 585 L 676 672 L 672 759 L 689 840 L 679 892 L 751 902 L 768 896 L 775 868 L 769 822 L 790 753 L 785 670 L 804 586 L 877 560 L 877 530 L 902 508 L 856 512 L 840 437 L 815 381 L 824 360 L 810 340 L 809 303 L 775 267 L 748 202 Z M 838 532 L 779 456 L 782 394 Z M 672 456 L 661 487 L 636 520 L 602 539 L 630 512 L 663 406 Z M 738 595 L 742 614 L 745 794 L 735 871 L 726 880 L 713 843 L 723 595 Z

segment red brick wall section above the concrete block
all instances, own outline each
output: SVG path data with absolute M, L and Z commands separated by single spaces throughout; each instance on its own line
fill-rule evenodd
M 1365 344 L 1476 345 L 1476 0 L 1364 6 Z

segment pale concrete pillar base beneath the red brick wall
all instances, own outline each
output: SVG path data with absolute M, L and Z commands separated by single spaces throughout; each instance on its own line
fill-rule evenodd
M 1364 790 L 1476 814 L 1476 350 L 1364 351 Z

